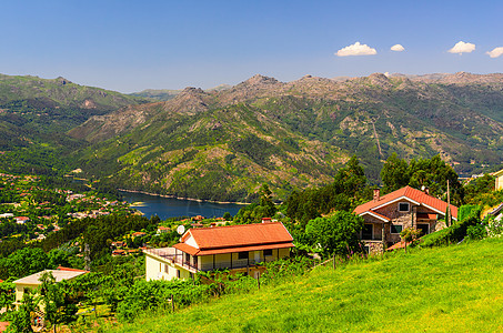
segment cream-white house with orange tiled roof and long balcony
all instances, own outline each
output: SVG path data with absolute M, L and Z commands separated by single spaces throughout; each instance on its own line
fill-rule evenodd
M 293 238 L 281 222 L 189 229 L 172 248 L 147 249 L 147 281 L 191 279 L 198 272 L 229 269 L 254 278 L 261 262 L 290 255 Z

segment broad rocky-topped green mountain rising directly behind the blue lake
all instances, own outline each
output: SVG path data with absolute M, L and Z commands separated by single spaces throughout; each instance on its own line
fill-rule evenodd
M 80 160 L 88 174 L 199 199 L 243 200 L 264 182 L 284 198 L 331 182 L 353 154 L 374 181 L 392 152 L 440 154 L 471 173 L 503 161 L 503 75 L 255 75 L 92 117 L 70 133 L 94 144 Z

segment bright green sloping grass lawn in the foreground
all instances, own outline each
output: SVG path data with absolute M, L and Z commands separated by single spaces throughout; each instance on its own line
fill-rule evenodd
M 114 330 L 503 332 L 503 239 L 319 268 L 295 282 Z

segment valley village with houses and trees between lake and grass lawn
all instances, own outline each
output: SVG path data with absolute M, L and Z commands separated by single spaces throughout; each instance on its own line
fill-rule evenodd
M 278 205 L 264 184 L 258 202 L 235 216 L 165 221 L 147 219 L 87 184 L 54 186 L 40 176 L 2 173 L 2 316 L 17 330 L 85 330 L 133 320 L 152 306 L 174 312 L 240 285 L 247 285 L 243 292 L 253 283 L 281 283 L 279 276 L 303 275 L 320 264 L 335 269 L 408 248 L 503 234 L 503 171 L 463 184 L 455 173 L 440 182 L 430 173 L 418 189 L 409 171 L 403 186 L 396 174 L 385 174 L 402 161 L 386 163 L 383 188 L 369 185 L 353 158 L 328 192 L 294 192 Z M 154 299 L 140 296 L 152 287 Z

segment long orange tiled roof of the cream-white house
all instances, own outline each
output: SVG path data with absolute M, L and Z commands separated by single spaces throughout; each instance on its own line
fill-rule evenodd
M 193 238 L 198 248 L 185 243 Z M 190 229 L 173 248 L 191 255 L 293 248 L 293 238 L 281 222 Z

